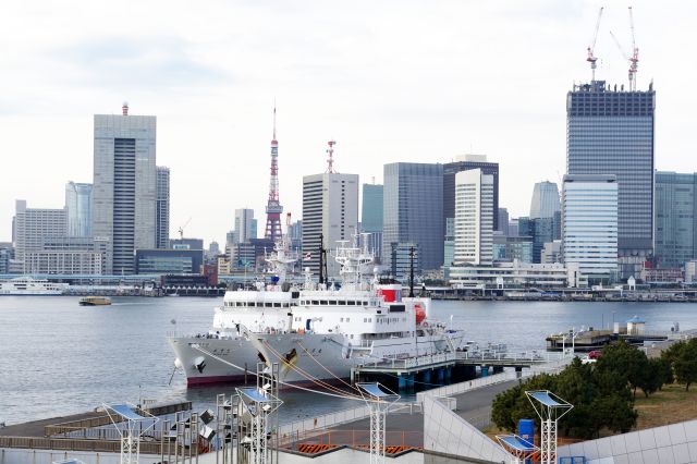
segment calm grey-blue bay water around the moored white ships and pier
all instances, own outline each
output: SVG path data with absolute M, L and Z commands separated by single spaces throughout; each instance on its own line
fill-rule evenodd
M 82 413 L 101 403 L 191 400 L 210 407 L 230 386 L 186 388 L 173 369 L 168 332 L 206 331 L 222 298 L 114 297 L 111 306 L 82 307 L 78 298 L 0 297 L 0 423 Z M 697 328 L 697 304 L 435 302 L 433 316 L 466 339 L 545 350 L 545 337 L 571 327 L 608 327 L 634 315 L 647 330 Z M 172 320 L 175 323 L 172 323 Z M 281 422 L 356 405 L 305 392 L 283 392 Z

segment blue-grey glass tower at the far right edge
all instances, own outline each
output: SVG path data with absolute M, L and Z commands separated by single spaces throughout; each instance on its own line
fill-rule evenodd
M 697 173 L 656 173 L 656 258 L 660 267 L 697 259 Z

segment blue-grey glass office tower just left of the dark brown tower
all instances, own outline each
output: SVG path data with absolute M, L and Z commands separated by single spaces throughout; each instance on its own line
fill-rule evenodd
M 392 256 L 395 246 L 415 246 L 419 266 L 416 273 L 440 269 L 444 241 L 443 166 L 394 162 L 384 164 L 383 174 L 383 256 Z M 396 270 L 393 268 L 392 272 Z

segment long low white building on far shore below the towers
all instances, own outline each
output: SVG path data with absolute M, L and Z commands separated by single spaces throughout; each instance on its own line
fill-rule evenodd
M 453 266 L 450 284 L 455 289 L 481 289 L 482 286 L 536 286 L 540 289 L 565 288 L 568 281 L 566 267 L 561 264 L 541 265 L 521 262 L 493 262 L 487 266 Z

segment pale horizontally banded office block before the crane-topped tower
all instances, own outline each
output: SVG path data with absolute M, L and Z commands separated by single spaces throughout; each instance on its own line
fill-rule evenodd
M 591 284 L 616 279 L 617 196 L 614 175 L 564 175 L 564 262 L 577 264 Z

